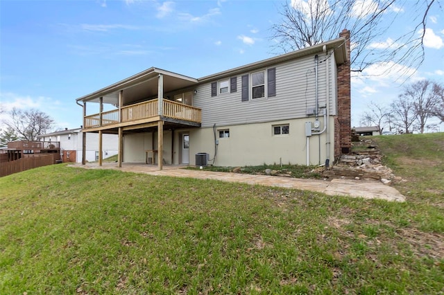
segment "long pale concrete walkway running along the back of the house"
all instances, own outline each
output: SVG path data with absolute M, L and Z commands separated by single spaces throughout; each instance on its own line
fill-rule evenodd
M 196 179 L 214 179 L 220 181 L 241 182 L 244 184 L 259 184 L 262 186 L 277 186 L 281 188 L 296 188 L 298 190 L 311 190 L 326 195 L 342 195 L 350 197 L 363 197 L 364 199 L 385 199 L 393 202 L 404 202 L 405 197 L 398 190 L 386 186 L 380 181 L 362 181 L 348 179 L 332 179 L 331 181 L 318 179 L 296 179 L 290 177 L 276 177 L 267 175 L 245 175 L 232 172 L 211 172 L 205 170 L 182 169 L 185 166 L 164 166 L 164 170 L 157 170 L 157 166 L 123 163 L 117 168 L 116 163 L 103 163 L 99 167 L 97 163 L 70 165 L 78 168 L 89 169 L 114 169 L 125 172 L 146 173 L 149 175 L 162 175 L 169 177 L 191 177 Z

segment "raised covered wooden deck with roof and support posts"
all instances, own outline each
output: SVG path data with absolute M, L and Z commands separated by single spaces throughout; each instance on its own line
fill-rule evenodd
M 83 165 L 87 132 L 99 133 L 99 166 L 103 162 L 103 133 L 119 134 L 118 167 L 123 161 L 123 134 L 127 133 L 157 131 L 157 157 L 163 159 L 164 126 L 200 127 L 201 110 L 192 106 L 197 83 L 185 75 L 151 68 L 78 98 L 77 104 L 83 107 Z M 98 103 L 99 112 L 87 114 L 89 102 Z M 104 105 L 114 109 L 105 111 Z M 162 160 L 157 162 L 162 170 Z

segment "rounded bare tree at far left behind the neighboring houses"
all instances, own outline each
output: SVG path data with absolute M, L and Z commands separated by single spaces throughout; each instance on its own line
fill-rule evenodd
M 14 130 L 20 139 L 35 141 L 37 135 L 45 134 L 51 130 L 54 120 L 37 109 L 22 111 L 14 108 L 10 111 L 10 120 L 6 120 L 5 124 Z

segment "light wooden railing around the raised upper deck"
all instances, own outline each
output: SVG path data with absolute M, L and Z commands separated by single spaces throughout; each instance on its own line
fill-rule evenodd
M 171 100 L 163 100 L 162 108 L 163 116 L 165 117 L 200 123 L 201 114 L 200 109 L 197 107 L 182 105 L 179 102 Z M 159 116 L 157 111 L 157 98 L 146 102 L 139 102 L 135 105 L 126 105 L 121 108 L 121 113 L 122 118 L 119 120 L 118 109 L 104 111 L 102 113 L 102 123 L 100 122 L 100 114 L 85 116 L 85 128 L 94 128 L 105 125 L 112 127 L 112 125 L 117 123 L 127 123 Z

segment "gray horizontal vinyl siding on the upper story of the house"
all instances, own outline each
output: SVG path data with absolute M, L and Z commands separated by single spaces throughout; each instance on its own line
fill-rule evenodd
M 320 53 L 319 61 L 325 57 Z M 334 57 L 330 57 L 329 60 Z M 270 98 L 256 98 L 251 100 L 251 88 L 249 88 L 249 101 L 241 101 L 241 73 L 237 75 L 237 92 L 223 93 L 211 96 L 211 82 L 201 84 L 198 93 L 194 96 L 194 106 L 202 109 L 202 127 L 216 125 L 235 125 L 269 122 L 273 120 L 287 120 L 293 118 L 307 117 L 307 109 L 315 107 L 315 72 L 314 55 L 299 60 L 292 60 L 282 64 L 268 66 L 276 68 L 276 96 Z M 334 66 L 334 68 L 336 68 Z M 335 70 L 335 69 L 333 69 Z M 255 70 L 256 71 L 256 70 Z M 250 73 L 248 73 L 250 74 Z M 330 69 L 330 114 L 333 114 L 332 101 L 334 95 L 335 75 Z M 325 105 L 327 85 L 325 84 L 326 69 L 325 62 L 318 66 L 318 102 Z M 212 81 L 214 82 L 214 81 Z M 322 111 L 320 111 L 322 116 Z

